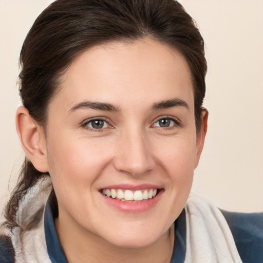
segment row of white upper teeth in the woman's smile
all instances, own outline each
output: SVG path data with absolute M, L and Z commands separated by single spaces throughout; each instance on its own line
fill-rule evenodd
M 102 194 L 122 201 L 142 201 L 152 199 L 157 195 L 157 189 L 137 190 L 135 192 L 121 189 L 103 189 Z

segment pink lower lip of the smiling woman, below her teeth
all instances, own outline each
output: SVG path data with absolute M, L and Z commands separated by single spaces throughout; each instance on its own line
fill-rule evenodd
M 163 190 L 161 190 L 154 198 L 148 199 L 146 201 L 139 202 L 125 202 L 116 199 L 112 199 L 101 194 L 102 198 L 107 202 L 107 204 L 113 206 L 115 209 L 118 209 L 122 212 L 127 213 L 142 213 L 153 208 L 156 203 L 160 200 L 163 194 Z

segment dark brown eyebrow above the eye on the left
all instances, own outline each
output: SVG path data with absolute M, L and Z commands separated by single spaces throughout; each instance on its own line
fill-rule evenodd
M 103 103 L 103 102 L 91 102 L 91 101 L 83 101 L 80 103 L 75 104 L 68 113 L 72 113 L 76 111 L 77 109 L 96 109 L 96 110 L 104 110 L 104 111 L 111 111 L 111 112 L 119 112 L 121 111 L 118 106 L 114 106 L 109 103 Z

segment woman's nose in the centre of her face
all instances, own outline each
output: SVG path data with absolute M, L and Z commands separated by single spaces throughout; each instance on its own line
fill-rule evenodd
M 125 132 L 118 138 L 114 166 L 123 173 L 141 176 L 156 166 L 149 139 L 143 132 Z

